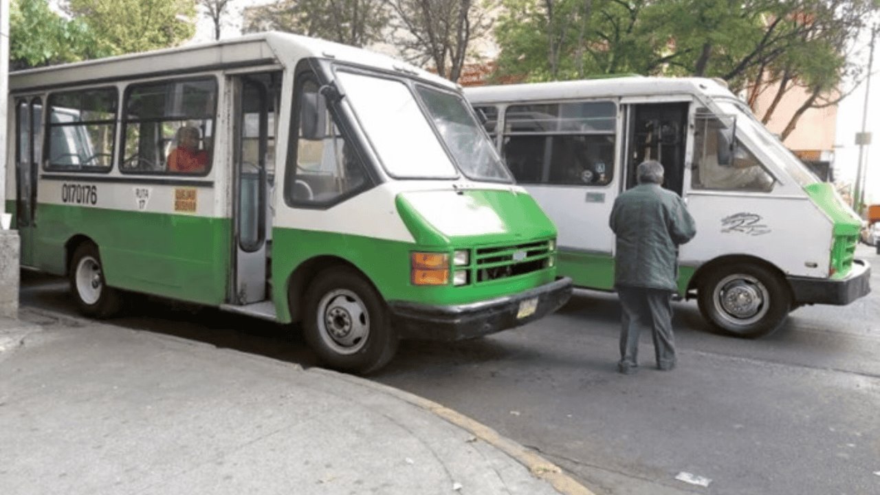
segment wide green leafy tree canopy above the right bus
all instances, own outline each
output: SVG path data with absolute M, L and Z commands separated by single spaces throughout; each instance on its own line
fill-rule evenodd
M 835 104 L 847 57 L 877 0 L 504 0 L 499 76 L 583 78 L 635 72 L 722 78 L 731 90 L 775 91 L 765 122 L 792 88 L 807 93 L 782 137 L 809 108 Z

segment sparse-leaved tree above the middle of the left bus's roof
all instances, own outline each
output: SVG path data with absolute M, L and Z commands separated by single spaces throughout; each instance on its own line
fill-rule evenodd
M 384 0 L 279 0 L 248 7 L 245 32 L 276 29 L 364 47 L 382 39 Z

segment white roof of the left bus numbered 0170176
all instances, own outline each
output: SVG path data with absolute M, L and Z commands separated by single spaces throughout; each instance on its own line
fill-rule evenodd
M 445 86 L 455 86 L 427 70 L 363 48 L 291 33 L 254 33 L 231 40 L 112 56 L 77 63 L 11 72 L 9 91 L 34 91 L 61 85 L 94 84 L 204 70 L 282 64 L 306 57 L 334 59 L 382 70 L 403 71 Z

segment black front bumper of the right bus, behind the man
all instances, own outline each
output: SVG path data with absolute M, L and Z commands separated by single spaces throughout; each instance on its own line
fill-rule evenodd
M 788 277 L 795 304 L 832 304 L 845 306 L 871 292 L 871 265 L 854 260 L 845 278 Z

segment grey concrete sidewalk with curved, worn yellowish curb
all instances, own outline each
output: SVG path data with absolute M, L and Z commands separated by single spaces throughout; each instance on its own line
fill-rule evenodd
M 0 318 L 4 495 L 591 493 L 488 427 L 370 380 L 19 318 Z

